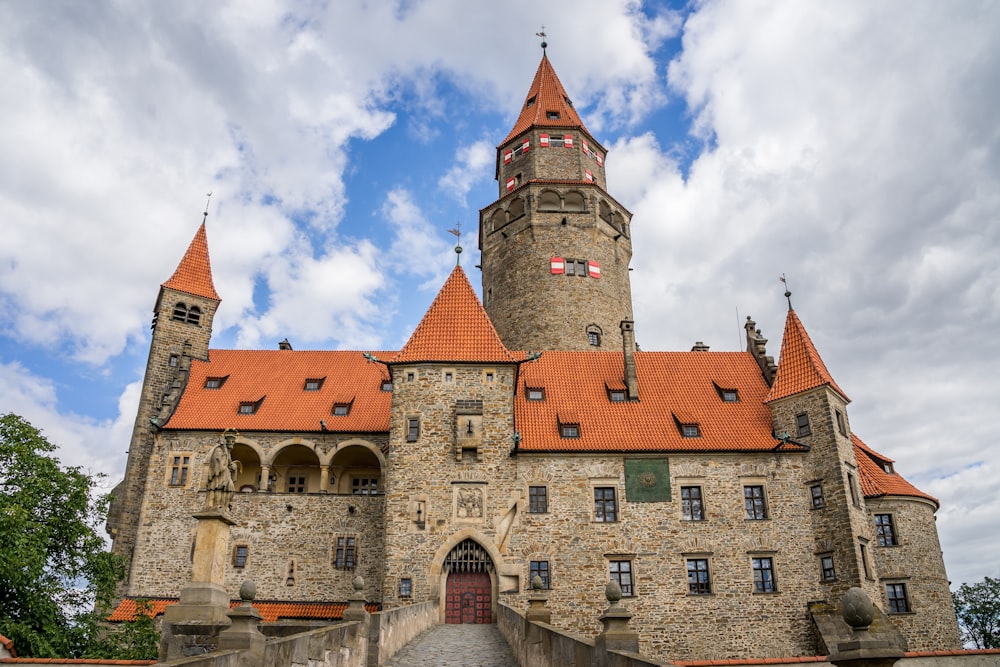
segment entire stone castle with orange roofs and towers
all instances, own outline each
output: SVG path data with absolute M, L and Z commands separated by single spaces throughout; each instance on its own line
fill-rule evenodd
M 120 609 L 190 579 L 225 440 L 225 588 L 252 579 L 266 617 L 337 618 L 361 575 L 384 608 L 488 623 L 537 576 L 593 635 L 611 579 L 644 654 L 801 656 L 825 650 L 815 604 L 857 586 L 910 649 L 957 648 L 938 503 L 851 432 L 790 302 L 777 364 L 749 318 L 745 352 L 637 349 L 606 155 L 543 55 L 480 211 L 483 300 L 456 266 L 398 351 L 211 349 L 203 222 L 156 299 L 109 515 Z

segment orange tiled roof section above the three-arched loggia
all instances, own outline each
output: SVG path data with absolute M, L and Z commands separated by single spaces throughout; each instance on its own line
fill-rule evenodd
M 209 350 L 208 356 L 191 362 L 184 395 L 164 428 L 308 432 L 321 431 L 322 419 L 330 431 L 389 431 L 392 394 L 381 390 L 389 374 L 361 352 Z M 206 389 L 210 377 L 225 381 Z M 305 391 L 306 379 L 323 380 L 319 391 Z M 255 414 L 238 414 L 241 403 L 256 401 Z M 351 403 L 349 413 L 333 416 L 334 403 Z

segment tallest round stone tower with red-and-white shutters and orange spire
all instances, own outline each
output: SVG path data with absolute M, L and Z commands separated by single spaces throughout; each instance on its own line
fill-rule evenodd
M 606 156 L 543 55 L 479 213 L 483 302 L 509 349 L 621 349 L 632 214 L 606 190 Z

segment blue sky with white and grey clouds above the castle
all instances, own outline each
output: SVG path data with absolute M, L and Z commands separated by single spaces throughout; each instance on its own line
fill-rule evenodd
M 494 6 L 495 5 L 495 6 Z M 647 350 L 778 354 L 1000 576 L 1000 6 L 454 0 L 0 6 L 0 412 L 120 478 L 157 288 L 212 192 L 216 347 L 393 349 L 478 285 L 495 145 L 549 56 L 634 214 Z

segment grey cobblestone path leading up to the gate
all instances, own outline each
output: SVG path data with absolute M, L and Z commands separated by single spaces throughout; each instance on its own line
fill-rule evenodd
M 386 663 L 386 667 L 517 667 L 495 625 L 435 625 Z

